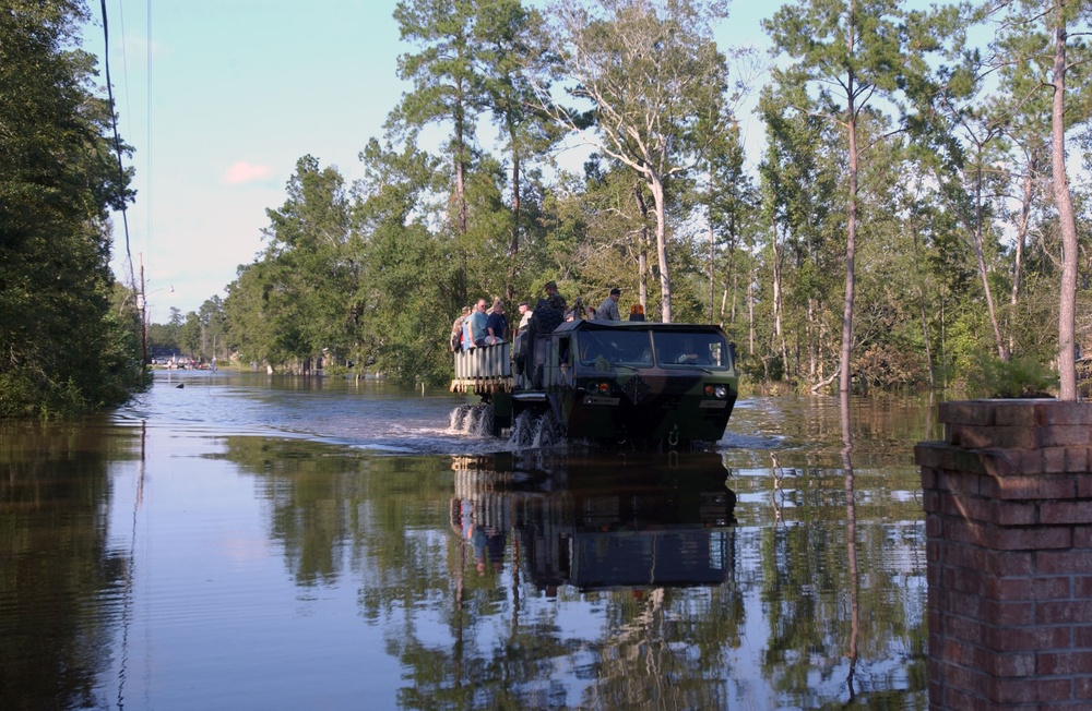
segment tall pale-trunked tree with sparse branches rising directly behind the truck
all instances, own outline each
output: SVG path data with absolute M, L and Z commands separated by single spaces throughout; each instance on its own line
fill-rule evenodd
M 546 110 L 633 170 L 652 195 L 664 322 L 672 321 L 665 184 L 703 164 L 713 125 L 727 113 L 727 68 L 711 27 L 726 14 L 723 3 L 703 0 L 561 3 L 556 51 L 571 95 L 591 105 L 594 131 L 539 87 Z

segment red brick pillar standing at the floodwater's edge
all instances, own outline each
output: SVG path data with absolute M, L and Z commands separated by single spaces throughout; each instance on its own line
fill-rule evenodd
M 923 442 L 931 709 L 1092 709 L 1092 405 L 940 406 Z

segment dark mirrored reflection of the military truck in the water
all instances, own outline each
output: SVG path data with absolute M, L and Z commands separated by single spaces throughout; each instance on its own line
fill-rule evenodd
M 733 579 L 736 495 L 715 455 L 538 466 L 500 457 L 453 463 L 451 527 L 473 544 L 479 571 L 499 571 L 510 556 L 550 595 L 560 586 L 646 590 Z

